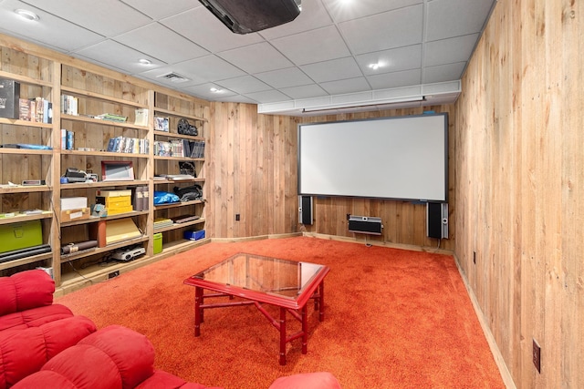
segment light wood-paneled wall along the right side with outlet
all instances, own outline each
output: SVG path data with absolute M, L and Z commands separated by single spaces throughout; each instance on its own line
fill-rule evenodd
M 499 0 L 455 107 L 455 253 L 521 388 L 584 387 L 583 18 Z

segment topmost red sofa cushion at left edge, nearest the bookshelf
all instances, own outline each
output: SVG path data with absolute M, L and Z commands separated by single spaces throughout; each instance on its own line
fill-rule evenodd
M 0 277 L 0 316 L 53 303 L 55 282 L 45 271 L 21 271 Z

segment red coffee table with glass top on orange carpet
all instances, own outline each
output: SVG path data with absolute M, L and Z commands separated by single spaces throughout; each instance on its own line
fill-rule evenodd
M 184 280 L 195 287 L 194 292 L 194 336 L 201 334 L 203 311 L 207 308 L 222 308 L 255 305 L 280 333 L 280 364 L 286 364 L 286 343 L 302 337 L 302 353 L 308 352 L 307 304 L 314 299 L 318 320 L 322 322 L 324 312 L 324 279 L 328 266 L 309 262 L 297 262 L 238 253 Z M 203 290 L 215 293 L 204 293 Z M 229 296 L 227 302 L 206 303 L 209 297 Z M 233 297 L 245 301 L 231 301 Z M 262 303 L 280 308 L 279 320 L 266 311 Z M 302 329 L 287 336 L 287 312 L 302 323 Z

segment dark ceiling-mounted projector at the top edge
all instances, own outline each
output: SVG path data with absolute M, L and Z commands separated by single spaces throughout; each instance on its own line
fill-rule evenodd
M 291 22 L 301 0 L 199 0 L 235 34 L 249 34 Z

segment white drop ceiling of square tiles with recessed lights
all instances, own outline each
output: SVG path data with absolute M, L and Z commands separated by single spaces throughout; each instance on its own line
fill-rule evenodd
M 302 0 L 292 22 L 237 35 L 197 0 L 0 0 L 0 33 L 205 100 L 310 115 L 454 102 L 495 2 Z

